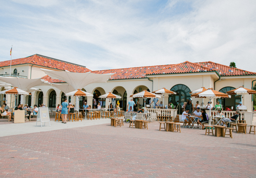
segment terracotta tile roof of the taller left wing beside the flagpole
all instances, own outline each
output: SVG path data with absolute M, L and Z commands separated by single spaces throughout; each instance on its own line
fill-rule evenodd
M 42 55 L 32 55 L 26 58 L 20 58 L 20 59 L 13 59 L 12 60 L 12 66 L 18 65 L 18 64 L 34 64 L 38 66 L 44 66 L 49 67 L 52 69 L 59 69 L 59 70 L 68 70 L 71 72 L 88 72 L 91 71 L 87 69 L 84 66 L 79 66 L 76 64 L 68 63 L 65 61 L 60 61 L 53 58 L 48 58 L 46 56 Z M 1 67 L 10 66 L 10 60 L 9 61 L 2 61 L 0 62 Z

